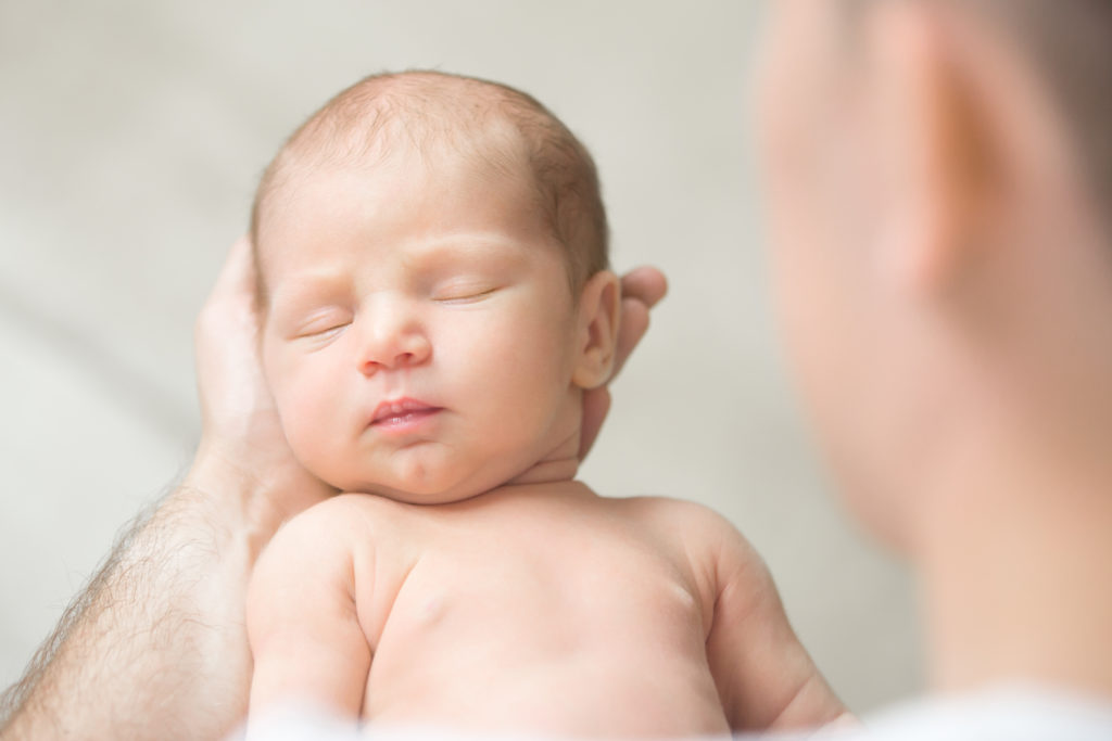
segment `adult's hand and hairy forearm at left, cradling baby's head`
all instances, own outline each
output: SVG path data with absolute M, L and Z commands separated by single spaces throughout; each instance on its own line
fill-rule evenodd
M 264 382 L 247 240 L 228 256 L 196 339 L 193 465 L 125 533 L 4 693 L 4 739 L 220 739 L 247 711 L 255 560 L 285 519 L 331 490 L 294 459 Z

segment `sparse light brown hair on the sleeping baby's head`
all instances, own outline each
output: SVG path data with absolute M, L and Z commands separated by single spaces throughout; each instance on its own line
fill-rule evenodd
M 532 176 L 537 206 L 566 250 L 574 293 L 609 266 L 609 229 L 590 153 L 532 96 L 498 82 L 436 71 L 367 77 L 325 103 L 285 142 L 255 193 L 250 236 L 298 177 L 374 162 L 401 146 L 435 162 L 438 148 L 477 157 L 504 174 Z M 258 270 L 261 276 L 261 270 Z M 265 301 L 266 287 L 259 283 Z

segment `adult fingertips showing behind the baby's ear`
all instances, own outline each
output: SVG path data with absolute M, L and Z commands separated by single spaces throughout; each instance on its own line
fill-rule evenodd
M 648 311 L 668 292 L 668 282 L 656 268 L 634 268 L 622 277 L 622 324 L 618 327 L 617 353 L 610 380 L 618 374 L 641 338 L 648 330 Z M 609 382 L 583 394 L 583 431 L 579 460 L 590 452 L 610 410 Z

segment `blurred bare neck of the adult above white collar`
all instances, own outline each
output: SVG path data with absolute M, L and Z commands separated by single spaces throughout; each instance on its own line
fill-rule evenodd
M 922 492 L 913 559 L 933 682 L 1034 681 L 1112 700 L 1112 437 L 1015 422 L 955 440 Z

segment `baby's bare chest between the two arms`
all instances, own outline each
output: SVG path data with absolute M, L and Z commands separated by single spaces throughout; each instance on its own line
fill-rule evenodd
M 365 718 L 724 731 L 705 564 L 658 522 L 597 498 L 391 507 L 354 564 Z

